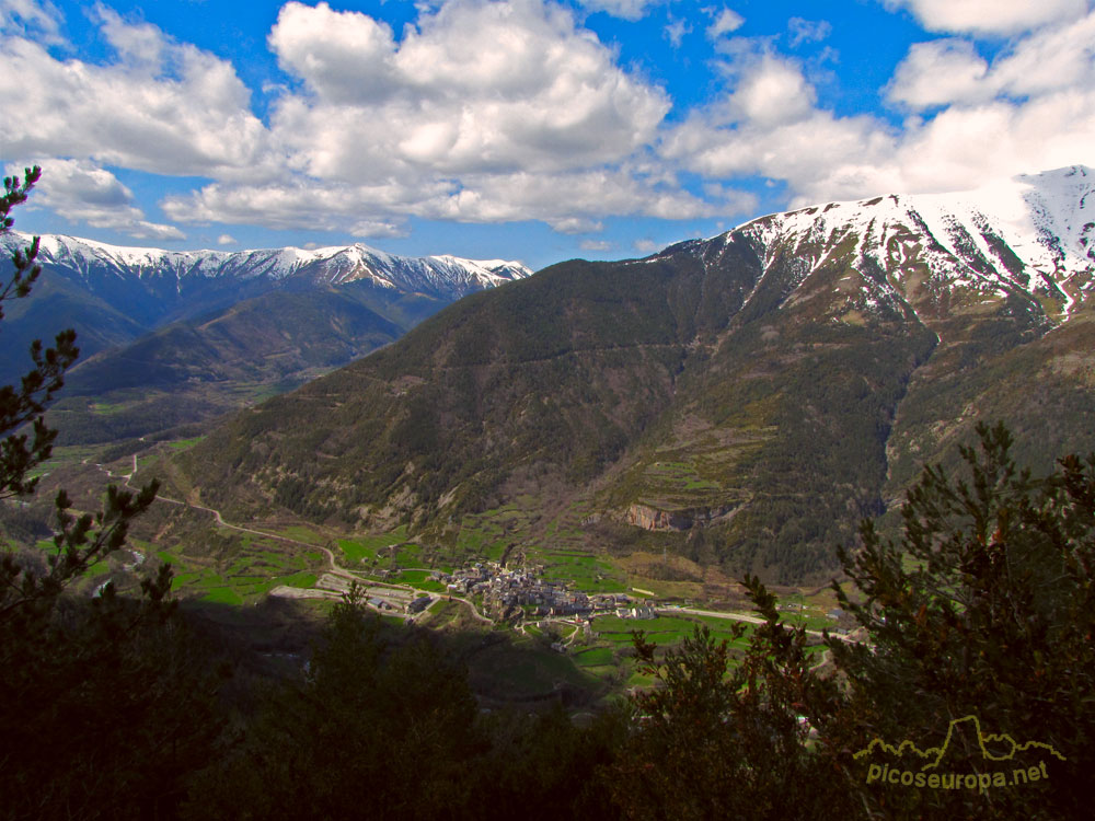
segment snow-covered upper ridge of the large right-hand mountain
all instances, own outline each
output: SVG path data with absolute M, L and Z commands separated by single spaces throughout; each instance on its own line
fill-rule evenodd
M 919 312 L 944 294 L 1025 294 L 1060 322 L 1095 279 L 1095 171 L 1075 165 L 958 194 L 829 203 L 722 236 L 734 238 L 756 247 L 764 271 L 794 257 L 789 300 L 811 274 L 835 264 L 862 280 L 834 286 L 849 310 L 903 304 Z

